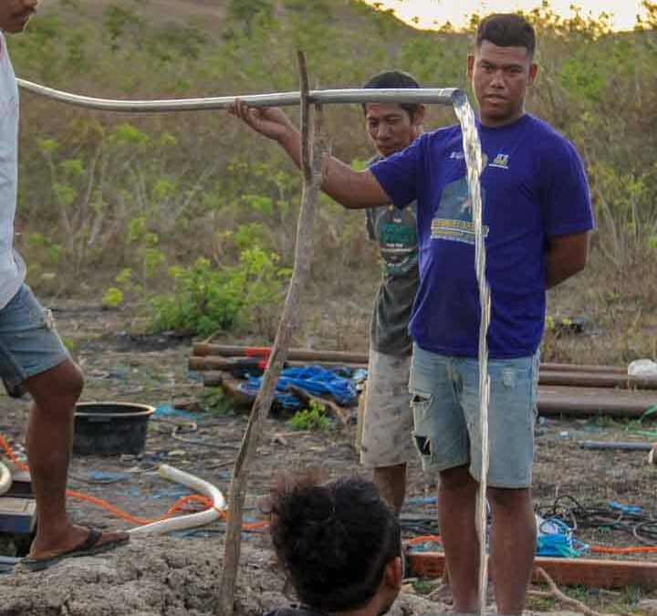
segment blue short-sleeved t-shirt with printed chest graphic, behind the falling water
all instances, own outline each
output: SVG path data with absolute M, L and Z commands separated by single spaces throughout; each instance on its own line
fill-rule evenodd
M 592 228 L 589 188 L 573 145 L 544 121 L 526 114 L 478 130 L 490 356 L 527 357 L 543 334 L 547 238 Z M 420 287 L 412 339 L 424 350 L 476 357 L 481 313 L 460 127 L 425 133 L 370 169 L 396 206 L 417 200 Z

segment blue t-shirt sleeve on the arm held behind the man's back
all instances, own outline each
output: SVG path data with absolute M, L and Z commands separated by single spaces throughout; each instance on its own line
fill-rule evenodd
M 548 237 L 593 228 L 593 211 L 584 164 L 570 141 L 559 139 L 541 157 L 543 218 Z

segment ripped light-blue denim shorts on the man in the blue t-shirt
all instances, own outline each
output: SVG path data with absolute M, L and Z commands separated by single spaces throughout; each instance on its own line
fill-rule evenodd
M 513 360 L 489 360 L 488 485 L 531 486 L 538 353 Z M 411 381 L 415 444 L 422 467 L 443 471 L 469 465 L 481 475 L 479 364 L 413 346 Z

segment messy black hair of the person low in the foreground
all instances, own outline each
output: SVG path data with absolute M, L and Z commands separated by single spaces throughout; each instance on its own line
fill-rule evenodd
M 386 565 L 401 556 L 397 517 L 376 485 L 359 477 L 283 479 L 268 514 L 278 562 L 316 611 L 362 607 L 379 590 Z

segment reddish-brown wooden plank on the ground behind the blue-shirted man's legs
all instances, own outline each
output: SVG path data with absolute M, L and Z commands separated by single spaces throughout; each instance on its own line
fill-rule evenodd
M 545 569 L 558 584 L 582 584 L 589 588 L 638 587 L 657 589 L 657 562 L 644 560 L 553 559 L 537 557 L 535 566 Z M 444 571 L 442 552 L 409 554 L 412 575 L 440 578 Z M 492 575 L 491 575 L 492 574 Z M 495 571 L 489 572 L 493 577 Z M 533 581 L 540 581 L 536 572 Z

